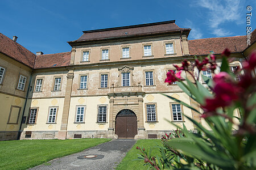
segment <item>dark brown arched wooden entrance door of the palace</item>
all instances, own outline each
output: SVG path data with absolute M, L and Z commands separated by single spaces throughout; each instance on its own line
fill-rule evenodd
M 123 109 L 115 117 L 115 134 L 118 138 L 134 138 L 137 135 L 137 117 L 129 110 Z

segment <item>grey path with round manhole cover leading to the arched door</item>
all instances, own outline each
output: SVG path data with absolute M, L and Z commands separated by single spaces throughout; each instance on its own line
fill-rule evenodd
M 31 169 L 114 169 L 135 143 L 133 139 L 117 139 Z

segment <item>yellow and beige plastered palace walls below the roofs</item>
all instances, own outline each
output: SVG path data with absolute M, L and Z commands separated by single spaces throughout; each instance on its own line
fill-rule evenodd
M 173 45 L 172 54 L 166 53 L 166 44 Z M 145 45 L 151 46 L 150 56 L 144 56 Z M 129 48 L 128 58 L 122 57 L 123 48 Z M 102 50 L 106 49 L 108 59 L 102 59 Z M 7 68 L 3 82 L 11 84 L 0 85 L 0 139 L 10 139 L 6 133 L 13 131 L 16 132 L 15 137 L 18 131 L 21 132 L 20 139 L 118 138 L 116 118 L 118 113 L 125 110 L 133 112 L 137 118 L 135 139 L 160 138 L 164 133 L 176 130 L 176 126 L 168 121 L 195 130 L 192 122 L 184 116 L 182 120 L 174 120 L 172 105 L 177 103 L 160 94 L 170 95 L 199 109 L 199 105 L 176 84 L 164 83 L 167 71 L 175 69 L 174 64 L 181 65 L 183 59 L 193 60 L 188 49 L 187 35 L 182 32 L 122 41 L 90 42 L 72 45 L 69 66 L 33 71 L 0 54 L 0 66 Z M 86 61 L 82 61 L 84 52 L 88 52 Z M 241 66 L 242 54 L 232 55 L 235 59 L 232 65 Z M 220 55 L 217 58 L 220 59 Z M 217 69 L 216 73 L 219 71 Z M 152 84 L 146 82 L 148 72 L 152 73 Z M 123 73 L 129 73 L 129 86 L 123 86 Z M 20 74 L 27 76 L 24 91 L 16 90 Z M 101 75 L 108 76 L 104 87 L 101 87 Z M 181 76 L 188 77 L 185 73 Z M 83 88 L 82 77 L 86 77 Z M 56 83 L 58 79 L 59 85 Z M 38 80 L 42 83 L 40 90 L 36 90 Z M 203 83 L 201 78 L 199 80 Z M 154 121 L 148 121 L 147 105 L 154 105 Z M 11 106 L 15 107 L 10 116 Z M 17 108 L 20 108 L 19 114 Z M 77 122 L 79 109 L 84 109 L 84 114 Z M 105 120 L 102 118 L 104 121 L 99 121 L 100 109 L 102 113 L 106 112 Z M 181 113 L 209 129 L 206 122 L 191 109 L 183 105 L 180 105 L 180 109 Z M 235 114 L 239 116 L 238 112 Z M 14 122 L 15 115 L 18 124 L 10 124 L 10 120 Z

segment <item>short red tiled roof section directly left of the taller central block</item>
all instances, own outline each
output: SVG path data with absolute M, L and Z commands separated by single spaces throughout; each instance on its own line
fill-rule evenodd
M 71 52 L 36 56 L 34 69 L 68 66 Z

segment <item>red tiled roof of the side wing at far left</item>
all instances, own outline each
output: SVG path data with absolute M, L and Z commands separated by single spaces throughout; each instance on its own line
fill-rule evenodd
M 34 66 L 36 55 L 2 33 L 0 33 L 0 53 L 13 58 L 28 67 L 32 68 Z

